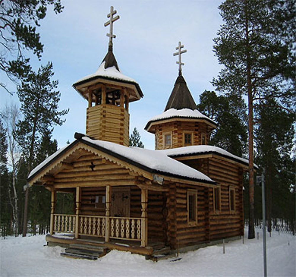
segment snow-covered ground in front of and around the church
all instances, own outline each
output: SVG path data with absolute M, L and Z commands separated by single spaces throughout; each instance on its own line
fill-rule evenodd
M 245 230 L 247 233 L 247 230 Z M 61 247 L 46 247 L 45 236 L 1 239 L 0 276 L 263 276 L 262 231 L 259 240 L 242 240 L 180 254 L 181 260 L 152 262 L 144 256 L 113 250 L 96 260 L 60 256 Z M 267 275 L 296 276 L 296 237 L 267 236 Z

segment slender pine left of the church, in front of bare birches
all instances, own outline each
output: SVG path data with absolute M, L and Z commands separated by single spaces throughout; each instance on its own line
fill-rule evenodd
M 41 66 L 38 72 L 31 72 L 18 87 L 17 94 L 21 102 L 21 112 L 24 119 L 18 124 L 18 139 L 22 152 L 28 162 L 28 173 L 36 157 L 38 141 L 53 125 L 62 125 L 65 120 L 61 117 L 69 110 L 57 111 L 60 99 L 59 91 L 55 91 L 58 81 L 51 81 L 53 76 L 52 63 Z M 25 196 L 23 236 L 27 228 L 28 189 Z

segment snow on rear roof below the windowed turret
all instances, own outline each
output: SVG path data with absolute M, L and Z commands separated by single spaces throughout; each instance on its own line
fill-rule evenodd
M 211 146 L 211 145 L 192 145 L 192 146 L 178 147 L 178 148 L 158 150 L 158 151 L 164 153 L 165 155 L 167 155 L 169 157 L 194 155 L 194 154 L 206 154 L 206 153 L 217 153 L 217 154 L 220 154 L 224 157 L 229 157 L 233 160 L 243 162 L 244 164 L 249 164 L 249 161 L 247 159 L 238 157 L 238 156 L 231 154 L 228 151 L 226 151 L 220 147 Z M 257 165 L 255 165 L 255 166 L 257 167 Z

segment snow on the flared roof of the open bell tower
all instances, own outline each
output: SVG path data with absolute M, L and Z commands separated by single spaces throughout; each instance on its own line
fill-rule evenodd
M 75 84 L 80 83 L 85 80 L 88 80 L 90 78 L 94 78 L 94 77 L 107 77 L 107 78 L 111 78 L 111 79 L 137 83 L 134 79 L 132 79 L 126 75 L 123 75 L 120 71 L 117 70 L 117 68 L 115 66 L 105 68 L 105 61 L 103 61 L 95 73 L 87 75 L 87 76 L 79 79 L 77 82 L 75 82 Z

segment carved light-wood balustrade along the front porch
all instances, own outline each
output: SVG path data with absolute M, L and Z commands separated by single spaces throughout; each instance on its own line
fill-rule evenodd
M 106 236 L 106 216 L 54 214 L 54 232 L 75 233 L 78 224 L 78 234 L 96 237 Z M 109 237 L 141 241 L 141 218 L 109 217 Z

